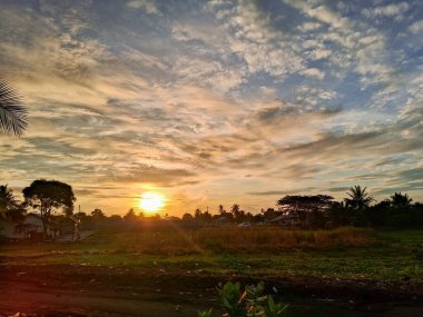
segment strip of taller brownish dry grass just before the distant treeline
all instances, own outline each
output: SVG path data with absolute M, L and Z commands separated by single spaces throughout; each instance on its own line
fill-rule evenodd
M 114 235 L 115 252 L 183 255 L 200 252 L 275 252 L 288 249 L 334 249 L 370 246 L 370 229 L 284 230 L 281 228 L 201 228 L 134 230 Z

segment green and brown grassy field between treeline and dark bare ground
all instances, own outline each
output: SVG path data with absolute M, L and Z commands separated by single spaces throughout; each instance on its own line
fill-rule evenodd
M 79 244 L 2 244 L 2 265 L 423 284 L 423 232 L 102 229 Z

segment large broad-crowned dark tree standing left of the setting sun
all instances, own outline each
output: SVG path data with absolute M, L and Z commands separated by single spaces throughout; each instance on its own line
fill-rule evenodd
M 40 210 L 45 237 L 47 237 L 51 211 L 61 210 L 67 216 L 73 212 L 76 200 L 73 190 L 65 182 L 37 179 L 29 187 L 23 188 L 22 194 L 27 206 Z

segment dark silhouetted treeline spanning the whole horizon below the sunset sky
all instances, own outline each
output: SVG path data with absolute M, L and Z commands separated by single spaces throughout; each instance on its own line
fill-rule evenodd
M 0 186 L 0 217 L 21 221 L 28 207 L 40 211 L 45 231 L 48 226 L 60 226 L 66 221 L 77 224 L 138 222 L 159 220 L 160 216 L 145 217 L 129 209 L 125 216 L 107 216 L 102 210 L 73 212 L 76 197 L 72 188 L 56 180 L 35 180 L 22 190 L 24 201 L 19 201 L 12 190 Z M 216 212 L 196 209 L 181 218 L 163 217 L 163 220 L 183 221 L 191 225 L 262 224 L 297 228 L 334 228 L 340 226 L 423 228 L 423 204 L 414 202 L 406 194 L 394 192 L 382 201 L 376 201 L 367 189 L 352 187 L 341 201 L 329 195 L 292 195 L 276 201 L 276 208 L 262 209 L 259 214 L 243 210 L 234 204 L 229 210 L 223 205 Z M 52 214 L 55 211 L 55 214 Z M 57 214 L 58 211 L 61 211 Z

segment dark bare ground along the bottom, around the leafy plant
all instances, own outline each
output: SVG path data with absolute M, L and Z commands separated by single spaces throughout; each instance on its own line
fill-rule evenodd
M 246 276 L 72 265 L 2 265 L 0 316 L 197 316 L 222 311 L 215 286 Z M 422 316 L 423 287 L 312 278 L 266 278 L 287 316 Z M 19 315 L 17 315 L 19 313 Z

